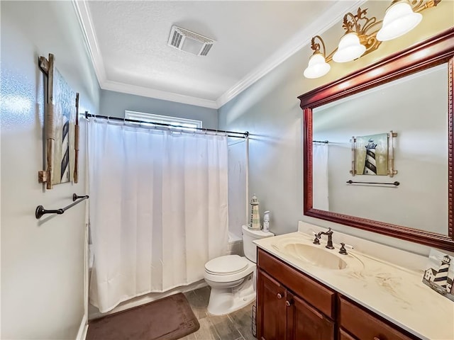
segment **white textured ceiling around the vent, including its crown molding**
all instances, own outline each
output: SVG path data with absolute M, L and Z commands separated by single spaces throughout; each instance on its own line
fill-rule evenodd
M 101 89 L 219 108 L 360 2 L 74 4 Z M 167 45 L 172 25 L 216 42 L 206 56 L 182 52 Z

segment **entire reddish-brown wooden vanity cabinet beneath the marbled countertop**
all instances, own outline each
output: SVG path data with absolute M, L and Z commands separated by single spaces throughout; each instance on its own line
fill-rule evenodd
M 415 340 L 275 256 L 258 249 L 260 340 Z

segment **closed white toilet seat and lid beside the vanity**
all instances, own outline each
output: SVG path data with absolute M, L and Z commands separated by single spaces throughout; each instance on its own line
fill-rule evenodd
M 255 263 L 243 256 L 220 256 L 205 263 L 204 278 L 219 283 L 233 282 L 245 278 L 254 269 Z

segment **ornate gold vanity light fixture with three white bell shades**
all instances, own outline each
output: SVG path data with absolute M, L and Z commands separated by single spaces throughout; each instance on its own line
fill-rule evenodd
M 311 40 L 314 53 L 309 58 L 304 77 L 314 79 L 324 76 L 331 66 L 328 62 L 350 62 L 362 55 L 377 50 L 382 41 L 392 40 L 415 28 L 422 19 L 420 11 L 437 6 L 441 0 L 394 0 L 387 8 L 382 21 L 375 16 L 367 17 L 367 8 L 358 12 L 346 13 L 342 27 L 345 34 L 339 41 L 336 50 L 326 55 L 325 43 L 320 35 Z M 413 7 L 412 7 L 413 6 Z M 380 30 L 374 29 L 382 24 Z M 321 51 L 323 47 L 323 51 Z

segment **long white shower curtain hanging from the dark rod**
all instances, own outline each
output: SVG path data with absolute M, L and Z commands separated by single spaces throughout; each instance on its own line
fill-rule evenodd
M 228 246 L 227 137 L 93 119 L 88 132 L 90 303 L 201 280 Z

